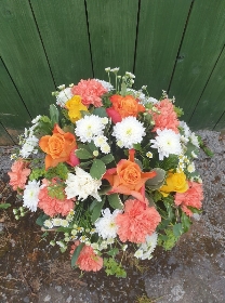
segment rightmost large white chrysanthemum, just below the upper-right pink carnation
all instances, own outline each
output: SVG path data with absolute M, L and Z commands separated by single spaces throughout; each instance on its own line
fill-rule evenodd
M 153 145 L 150 147 L 157 148 L 159 153 L 159 160 L 163 160 L 164 157 L 169 157 L 169 155 L 181 155 L 182 154 L 182 145 L 180 142 L 180 134 L 176 134 L 172 130 L 157 130 L 156 139 L 151 139 L 150 143 Z

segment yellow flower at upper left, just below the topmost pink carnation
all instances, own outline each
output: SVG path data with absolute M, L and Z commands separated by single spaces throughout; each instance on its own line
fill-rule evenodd
M 87 106 L 82 104 L 79 95 L 74 95 L 72 98 L 66 102 L 65 106 L 68 109 L 68 116 L 72 123 L 81 118 L 81 110 L 88 111 Z

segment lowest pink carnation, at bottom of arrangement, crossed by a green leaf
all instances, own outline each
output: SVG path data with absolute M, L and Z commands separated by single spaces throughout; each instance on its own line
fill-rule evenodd
M 80 241 L 77 240 L 71 246 L 70 254 L 72 255 L 75 249 L 79 246 Z M 84 246 L 77 259 L 76 265 L 79 266 L 81 271 L 85 272 L 97 272 L 103 267 L 103 258 L 94 253 L 94 250 L 90 246 Z

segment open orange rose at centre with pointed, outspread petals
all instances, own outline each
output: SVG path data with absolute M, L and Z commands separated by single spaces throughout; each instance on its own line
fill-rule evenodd
M 130 149 L 129 160 L 120 160 L 116 168 L 106 171 L 103 179 L 106 179 L 112 186 L 108 194 L 132 195 L 145 202 L 143 186 L 148 179 L 156 175 L 156 172 L 142 172 L 138 164 L 134 162 L 134 149 Z

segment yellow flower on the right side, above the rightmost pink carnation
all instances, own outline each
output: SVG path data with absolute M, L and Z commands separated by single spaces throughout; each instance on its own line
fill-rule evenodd
M 161 194 L 167 197 L 170 193 L 185 193 L 188 189 L 188 183 L 184 172 L 168 172 L 166 185 L 160 187 Z

